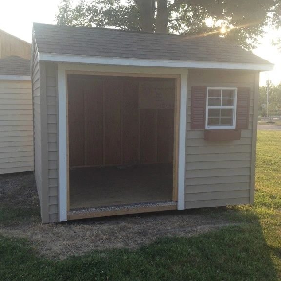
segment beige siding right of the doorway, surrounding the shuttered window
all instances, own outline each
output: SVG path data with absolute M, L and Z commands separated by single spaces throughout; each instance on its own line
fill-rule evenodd
M 190 70 L 186 126 L 185 208 L 250 202 L 255 73 Z M 250 87 L 249 128 L 235 141 L 205 141 L 204 130 L 191 130 L 191 87 Z

